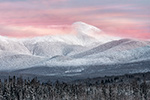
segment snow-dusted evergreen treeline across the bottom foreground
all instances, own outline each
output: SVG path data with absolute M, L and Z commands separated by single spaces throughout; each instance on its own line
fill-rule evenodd
M 122 76 L 117 76 L 94 82 L 40 83 L 37 78 L 14 76 L 0 80 L 0 100 L 150 100 L 149 81 L 127 77 L 132 81 L 119 82 Z

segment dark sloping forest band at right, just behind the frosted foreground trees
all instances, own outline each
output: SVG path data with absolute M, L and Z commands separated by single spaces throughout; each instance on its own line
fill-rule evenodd
M 144 80 L 150 80 L 150 72 L 145 73 L 133 73 L 133 74 L 125 74 L 118 76 L 104 76 L 104 77 L 96 77 L 96 78 L 87 78 L 73 81 L 74 83 L 87 83 L 87 84 L 109 84 L 109 83 L 131 83 L 133 81 L 142 82 Z

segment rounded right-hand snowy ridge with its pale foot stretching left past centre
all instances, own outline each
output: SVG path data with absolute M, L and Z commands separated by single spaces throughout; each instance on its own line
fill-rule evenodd
M 150 45 L 144 41 L 121 39 L 69 55 L 70 59 L 47 60 L 47 66 L 81 66 L 129 63 L 150 60 Z M 64 59 L 61 57 L 61 59 Z

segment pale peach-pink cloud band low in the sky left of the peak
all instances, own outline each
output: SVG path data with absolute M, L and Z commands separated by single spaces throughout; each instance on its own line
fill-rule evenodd
M 67 34 L 71 32 L 70 26 L 52 25 L 45 28 L 33 26 L 15 26 L 15 25 L 1 25 L 0 33 L 3 36 L 9 37 L 34 37 L 54 34 Z

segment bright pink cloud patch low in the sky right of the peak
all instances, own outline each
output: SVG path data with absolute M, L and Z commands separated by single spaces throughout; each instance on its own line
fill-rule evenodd
M 150 39 L 150 30 L 145 25 L 112 26 L 104 29 L 107 34 L 126 38 Z

